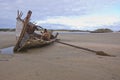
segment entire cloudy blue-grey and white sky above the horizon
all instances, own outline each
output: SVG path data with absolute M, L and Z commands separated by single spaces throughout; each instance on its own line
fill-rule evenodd
M 0 0 L 0 28 L 15 28 L 17 10 L 48 29 L 120 30 L 120 0 Z

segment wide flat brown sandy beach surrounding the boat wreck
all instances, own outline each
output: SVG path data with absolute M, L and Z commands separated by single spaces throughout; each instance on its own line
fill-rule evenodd
M 116 57 L 55 42 L 24 53 L 0 54 L 0 80 L 120 80 L 120 33 L 64 33 L 58 39 Z M 0 32 L 0 49 L 15 43 L 15 32 Z

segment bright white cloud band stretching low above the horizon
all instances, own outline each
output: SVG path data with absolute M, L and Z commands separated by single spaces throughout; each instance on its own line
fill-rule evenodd
M 100 26 L 109 26 L 114 25 L 115 23 L 119 23 L 120 18 L 117 16 L 57 16 L 51 17 L 46 20 L 36 21 L 38 25 L 41 24 L 61 24 L 66 26 L 71 26 L 74 29 L 81 29 L 82 27 L 100 27 Z

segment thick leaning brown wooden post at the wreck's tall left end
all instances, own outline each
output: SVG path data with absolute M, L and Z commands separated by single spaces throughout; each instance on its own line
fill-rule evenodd
M 19 12 L 18 12 L 19 13 Z M 24 24 L 23 24 L 23 29 L 22 29 L 22 32 L 20 34 L 20 37 L 19 37 L 19 40 L 17 41 L 15 47 L 14 47 L 14 51 L 17 51 L 17 49 L 19 48 L 20 46 L 20 43 L 25 35 L 25 32 L 26 32 L 26 29 L 27 29 L 27 24 L 29 23 L 29 20 L 30 20 L 30 17 L 31 17 L 31 14 L 32 14 L 32 11 L 28 11 L 27 13 L 27 16 L 25 18 L 25 21 L 24 21 Z M 22 16 L 22 13 L 20 15 L 20 17 Z

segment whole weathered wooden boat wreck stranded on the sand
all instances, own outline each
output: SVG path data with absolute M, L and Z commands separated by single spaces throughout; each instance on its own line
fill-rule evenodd
M 47 29 L 30 22 L 32 11 L 29 10 L 24 19 L 21 18 L 22 15 L 23 13 L 18 11 L 16 18 L 17 42 L 14 47 L 14 52 L 20 52 L 34 47 L 41 47 L 56 41 L 58 33 L 53 35 L 52 32 Z M 36 33 L 35 30 L 38 30 L 38 33 Z

